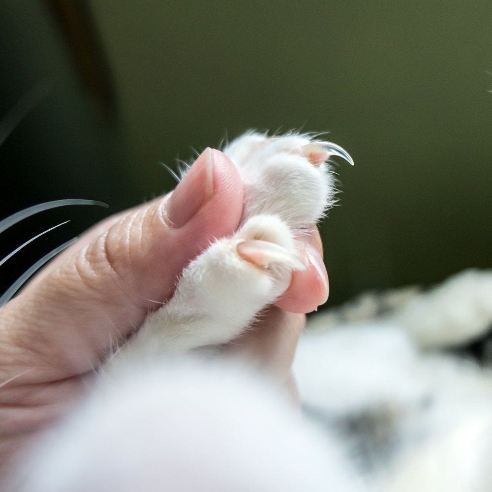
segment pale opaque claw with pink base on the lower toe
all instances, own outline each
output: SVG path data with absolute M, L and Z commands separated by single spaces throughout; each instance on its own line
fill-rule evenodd
M 306 270 L 306 265 L 297 255 L 269 241 L 243 241 L 236 248 L 241 258 L 257 267 L 268 268 L 271 263 L 283 263 L 293 270 Z

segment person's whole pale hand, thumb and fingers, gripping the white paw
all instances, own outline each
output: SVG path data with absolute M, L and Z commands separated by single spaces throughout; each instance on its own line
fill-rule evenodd
M 114 343 L 172 296 L 184 266 L 213 238 L 237 229 L 243 207 L 239 174 L 221 152 L 208 155 L 211 196 L 200 173 L 190 173 L 171 194 L 93 227 L 1 308 L 0 476 L 24 443 L 87 390 Z M 286 385 L 292 385 L 303 313 L 328 298 L 314 226 L 304 246 L 309 256 L 299 256 L 307 270 L 294 272 L 277 306 L 225 348 L 253 358 Z

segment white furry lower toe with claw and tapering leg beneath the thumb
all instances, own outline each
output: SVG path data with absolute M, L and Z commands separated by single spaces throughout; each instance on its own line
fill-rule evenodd
M 184 269 L 172 299 L 147 317 L 110 364 L 230 341 L 286 290 L 292 270 L 305 268 L 287 225 L 275 215 L 254 216 Z

